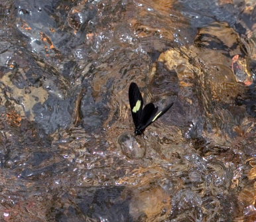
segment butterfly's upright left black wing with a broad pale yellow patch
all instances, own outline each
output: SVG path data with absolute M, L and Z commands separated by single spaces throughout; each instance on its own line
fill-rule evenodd
M 139 87 L 136 83 L 132 82 L 129 87 L 129 103 L 131 107 L 131 115 L 133 116 L 133 122 L 135 128 L 141 123 L 143 98 Z

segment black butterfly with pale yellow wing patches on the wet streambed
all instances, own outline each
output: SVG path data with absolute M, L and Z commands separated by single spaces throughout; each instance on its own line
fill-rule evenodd
M 143 108 L 141 92 L 139 91 L 138 85 L 134 82 L 132 82 L 129 87 L 129 102 L 131 115 L 133 116 L 133 122 L 135 125 L 135 136 L 141 135 L 143 131 L 151 125 L 151 123 L 159 119 L 159 117 L 168 111 L 168 109 L 173 105 L 173 103 L 170 103 L 170 105 L 165 107 L 159 113 L 157 113 L 159 107 L 155 107 L 153 103 L 149 103 Z

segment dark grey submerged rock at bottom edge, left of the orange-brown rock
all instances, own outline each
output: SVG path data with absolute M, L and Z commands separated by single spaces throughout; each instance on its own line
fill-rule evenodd
M 65 206 L 54 199 L 54 221 L 133 221 L 129 213 L 129 195 L 123 186 L 80 188 L 62 196 Z M 73 195 L 72 195 L 73 194 Z

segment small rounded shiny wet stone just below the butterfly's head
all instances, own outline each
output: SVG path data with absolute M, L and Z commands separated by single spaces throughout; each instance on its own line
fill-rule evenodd
M 138 140 L 130 133 L 123 133 L 123 135 L 118 138 L 118 143 L 125 156 L 131 159 L 143 158 L 146 148 L 143 144 L 139 143 Z

